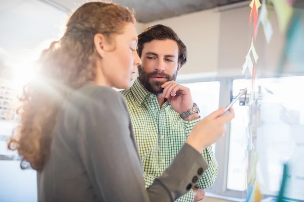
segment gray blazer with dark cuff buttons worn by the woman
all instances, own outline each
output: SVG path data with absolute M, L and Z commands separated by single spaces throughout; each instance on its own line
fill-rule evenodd
M 185 144 L 148 188 L 123 96 L 87 84 L 74 91 L 54 130 L 51 153 L 37 173 L 38 201 L 174 201 L 208 168 Z

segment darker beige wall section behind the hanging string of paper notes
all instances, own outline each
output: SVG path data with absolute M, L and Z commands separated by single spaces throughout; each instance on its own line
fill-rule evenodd
M 251 8 L 243 7 L 220 13 L 220 37 L 218 52 L 218 71 L 240 75 L 245 57 L 249 51 L 253 28 L 249 26 Z M 274 35 L 268 44 L 265 40 L 262 26 L 258 29 L 256 40 L 253 39 L 257 55 L 256 67 L 260 71 L 274 72 L 284 45 L 284 35 L 279 31 L 276 13 L 270 9 L 270 21 Z

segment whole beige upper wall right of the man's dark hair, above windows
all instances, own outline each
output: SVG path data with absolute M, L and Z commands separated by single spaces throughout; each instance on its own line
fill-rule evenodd
M 213 9 L 151 22 L 145 27 L 167 25 L 186 44 L 188 59 L 179 77 L 242 76 L 242 65 L 253 36 L 250 11 L 249 5 L 224 11 Z M 276 71 L 285 40 L 273 9 L 270 9 L 270 20 L 274 29 L 271 42 L 266 42 L 262 27 L 254 41 L 261 74 Z M 287 71 L 293 70 L 289 66 Z

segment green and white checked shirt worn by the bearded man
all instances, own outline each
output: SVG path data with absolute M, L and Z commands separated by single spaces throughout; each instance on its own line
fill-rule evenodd
M 156 95 L 148 92 L 138 78 L 130 89 L 123 90 L 122 93 L 131 116 L 147 188 L 171 164 L 189 133 L 201 119 L 190 122 L 183 120 L 168 101 L 160 109 Z M 202 155 L 209 168 L 197 187 L 206 189 L 214 183 L 218 167 L 211 147 L 206 148 Z M 194 201 L 193 190 L 177 201 Z

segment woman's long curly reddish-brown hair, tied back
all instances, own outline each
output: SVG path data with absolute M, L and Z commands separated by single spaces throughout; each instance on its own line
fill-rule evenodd
M 104 1 L 84 4 L 69 18 L 63 37 L 42 52 L 40 80 L 24 87 L 21 120 L 8 140 L 8 148 L 18 150 L 33 169 L 42 170 L 50 154 L 53 129 L 68 91 L 95 79 L 96 61 L 101 58 L 94 35 L 101 33 L 110 40 L 129 22 L 135 23 L 135 18 L 127 8 Z

